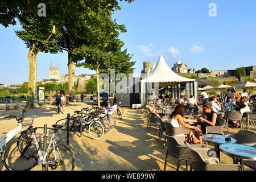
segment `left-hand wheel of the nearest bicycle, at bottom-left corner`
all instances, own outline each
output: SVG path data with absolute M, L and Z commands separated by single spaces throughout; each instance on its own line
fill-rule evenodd
M 22 151 L 25 148 L 26 151 L 22 156 Z M 37 149 L 34 142 L 29 142 L 27 139 L 16 139 L 8 144 L 3 151 L 2 162 L 10 171 L 28 171 L 38 164 L 35 151 Z M 32 157 L 27 157 L 29 155 L 32 155 Z

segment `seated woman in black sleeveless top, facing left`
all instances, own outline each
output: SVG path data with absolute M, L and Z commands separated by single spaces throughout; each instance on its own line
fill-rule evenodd
M 206 114 L 207 118 L 199 117 L 200 123 L 197 123 L 197 127 L 201 129 L 203 134 L 205 134 L 205 130 L 207 126 L 215 126 L 217 121 L 217 113 L 212 110 L 210 105 L 204 105 L 203 111 Z

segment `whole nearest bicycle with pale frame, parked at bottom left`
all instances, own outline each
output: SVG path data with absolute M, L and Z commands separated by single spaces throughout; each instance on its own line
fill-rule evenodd
M 9 143 L 2 155 L 2 162 L 11 171 L 26 171 L 34 168 L 36 164 L 46 166 L 46 170 L 73 171 L 75 168 L 75 155 L 72 149 L 66 144 L 57 144 L 55 134 L 57 129 L 63 126 L 56 126 L 53 134 L 36 133 L 38 128 L 31 128 L 29 138 L 16 139 Z M 43 150 L 42 137 L 51 138 L 46 150 Z

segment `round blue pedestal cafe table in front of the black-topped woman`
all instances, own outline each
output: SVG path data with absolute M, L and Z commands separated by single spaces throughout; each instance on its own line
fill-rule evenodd
M 203 140 L 209 142 L 209 143 L 213 143 L 216 150 L 217 150 L 217 155 L 218 155 L 218 160 L 220 160 L 220 144 L 230 144 L 230 143 L 236 143 L 237 140 L 234 138 L 231 138 L 231 141 L 226 141 L 226 135 L 216 135 L 216 134 L 203 134 L 202 138 Z

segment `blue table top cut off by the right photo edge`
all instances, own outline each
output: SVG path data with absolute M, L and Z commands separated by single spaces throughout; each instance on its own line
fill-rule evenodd
M 220 150 L 226 155 L 238 156 L 242 159 L 256 160 L 256 148 L 245 144 L 221 144 Z

